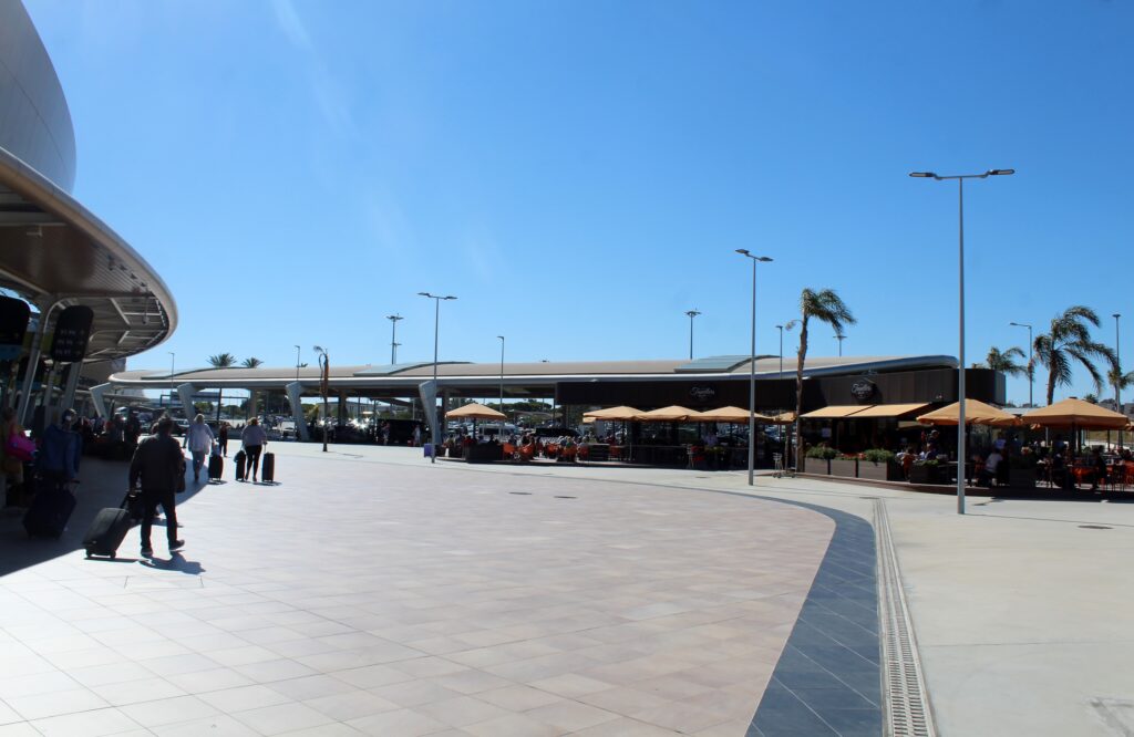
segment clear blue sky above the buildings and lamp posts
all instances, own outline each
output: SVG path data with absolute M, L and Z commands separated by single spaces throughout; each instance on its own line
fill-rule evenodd
M 956 185 L 906 175 L 1009 167 L 966 187 L 968 362 L 1074 304 L 1134 356 L 1131 3 L 25 1 L 75 194 L 177 299 L 132 367 L 388 363 L 395 312 L 429 361 L 418 291 L 442 361 L 679 358 L 692 307 L 746 354 L 736 248 L 759 353 L 830 287 L 845 355 L 955 356 Z

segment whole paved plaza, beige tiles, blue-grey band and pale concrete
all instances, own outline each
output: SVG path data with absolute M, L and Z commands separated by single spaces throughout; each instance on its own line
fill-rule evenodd
M 152 562 L 78 549 L 125 464 L 0 519 L 0 736 L 878 735 L 879 519 L 939 734 L 1131 734 L 1131 505 L 272 449 Z

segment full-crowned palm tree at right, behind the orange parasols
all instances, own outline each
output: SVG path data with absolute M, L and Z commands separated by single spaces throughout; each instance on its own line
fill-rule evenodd
M 1091 339 L 1089 325 L 1100 327 L 1099 315 L 1090 307 L 1075 305 L 1051 319 L 1050 330 L 1035 336 L 1033 361 L 1048 370 L 1048 404 L 1056 395 L 1056 386 L 1070 384 L 1072 361 L 1078 362 L 1091 375 L 1094 387 L 1102 390 L 1102 374 L 1095 361 L 1105 361 L 1112 371 L 1118 370 L 1118 357 L 1112 348 Z

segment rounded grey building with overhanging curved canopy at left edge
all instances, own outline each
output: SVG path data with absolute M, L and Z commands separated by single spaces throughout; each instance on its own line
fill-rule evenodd
M 51 59 L 24 6 L 0 2 L 0 400 L 25 425 L 177 328 L 158 273 L 71 195 L 75 171 Z

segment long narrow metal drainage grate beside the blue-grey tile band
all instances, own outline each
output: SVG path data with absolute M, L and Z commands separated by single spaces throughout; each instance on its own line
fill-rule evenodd
M 902 576 L 890 537 L 886 502 L 874 501 L 878 535 L 879 620 L 882 637 L 882 688 L 886 734 L 894 737 L 933 737 L 933 717 L 922 678 L 917 643 L 902 591 Z

